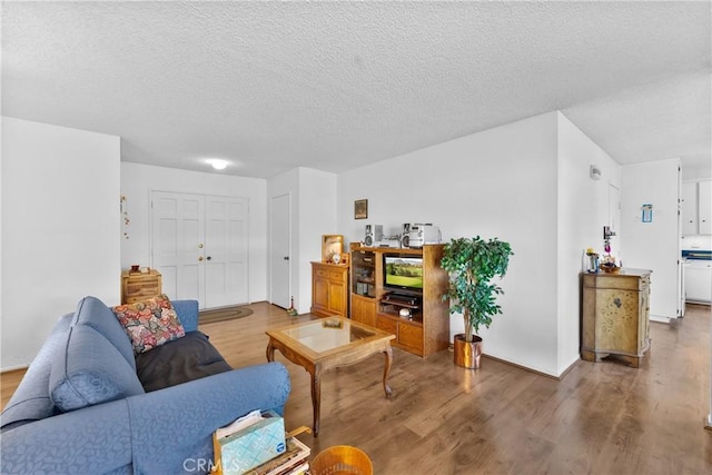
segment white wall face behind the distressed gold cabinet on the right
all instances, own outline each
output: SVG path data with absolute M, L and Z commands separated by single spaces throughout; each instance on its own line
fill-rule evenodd
M 590 177 L 590 167 L 602 171 Z M 621 188 L 621 167 L 562 113 L 558 115 L 558 374 L 580 357 L 583 253 L 592 247 L 603 255 L 603 227 L 611 225 L 609 188 Z M 617 207 L 617 205 L 615 205 Z M 620 229 L 616 229 L 620 232 Z M 612 239 L 619 256 L 619 238 Z

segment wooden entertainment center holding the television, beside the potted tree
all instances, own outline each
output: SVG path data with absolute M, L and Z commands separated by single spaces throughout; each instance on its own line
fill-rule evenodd
M 448 276 L 441 267 L 443 244 L 421 249 L 363 247 L 352 244 L 350 317 L 396 336 L 393 346 L 429 356 L 449 345 Z M 397 290 L 385 283 L 384 256 L 423 259 L 423 288 Z M 409 316 L 400 316 L 407 309 Z

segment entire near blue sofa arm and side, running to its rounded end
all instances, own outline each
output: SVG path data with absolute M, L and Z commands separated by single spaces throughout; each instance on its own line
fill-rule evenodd
M 284 414 L 280 363 L 248 366 L 2 433 L 3 474 L 205 473 L 212 433 L 255 409 Z

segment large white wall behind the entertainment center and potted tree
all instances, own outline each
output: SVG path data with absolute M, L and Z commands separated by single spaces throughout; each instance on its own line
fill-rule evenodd
M 501 283 L 503 315 L 481 330 L 486 354 L 556 375 L 557 113 L 551 112 L 417 150 L 338 176 L 338 229 L 363 239 L 433 222 L 445 241 L 498 237 L 514 256 Z M 354 200 L 368 199 L 368 219 Z M 573 276 L 575 278 L 575 276 Z M 459 316 L 451 335 L 462 333 Z

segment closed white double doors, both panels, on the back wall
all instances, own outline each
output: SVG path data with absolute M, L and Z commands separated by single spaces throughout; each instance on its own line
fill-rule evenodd
M 164 293 L 200 308 L 247 303 L 247 198 L 152 191 L 151 265 Z

